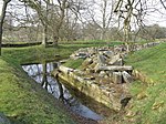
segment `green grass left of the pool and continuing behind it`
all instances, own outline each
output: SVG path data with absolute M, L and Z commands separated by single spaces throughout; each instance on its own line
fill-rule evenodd
M 86 46 L 98 44 L 61 44 L 46 49 L 41 45 L 3 48 L 0 58 L 0 112 L 15 124 L 74 124 L 63 105 L 31 80 L 20 64 L 64 59 Z

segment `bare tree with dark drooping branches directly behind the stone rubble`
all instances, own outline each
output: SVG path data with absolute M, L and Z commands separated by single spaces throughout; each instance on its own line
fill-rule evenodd
M 127 45 L 127 51 L 129 52 L 129 41 L 132 24 L 142 25 L 144 11 L 146 10 L 146 0 L 117 0 L 114 12 L 118 16 L 120 23 L 123 21 L 122 25 L 124 29 L 124 41 Z

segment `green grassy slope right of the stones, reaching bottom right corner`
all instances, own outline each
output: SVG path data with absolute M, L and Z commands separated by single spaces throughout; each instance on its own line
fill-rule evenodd
M 126 60 L 136 70 L 153 81 L 153 85 L 135 82 L 131 86 L 134 95 L 134 124 L 165 124 L 166 122 L 166 43 L 155 48 L 135 52 Z M 146 86 L 145 86 L 146 85 Z M 145 99 L 138 100 L 137 94 L 145 93 Z M 126 118 L 128 120 L 128 118 Z

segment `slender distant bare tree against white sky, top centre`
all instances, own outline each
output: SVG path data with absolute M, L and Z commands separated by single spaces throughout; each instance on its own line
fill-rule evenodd
M 113 12 L 114 0 L 91 0 L 86 1 L 85 14 L 83 20 L 86 20 L 86 24 L 97 25 L 100 30 L 100 39 L 105 40 L 106 33 L 111 27 L 114 25 L 114 12 Z M 113 22 L 114 21 L 114 22 Z M 93 34 L 92 34 L 93 35 Z

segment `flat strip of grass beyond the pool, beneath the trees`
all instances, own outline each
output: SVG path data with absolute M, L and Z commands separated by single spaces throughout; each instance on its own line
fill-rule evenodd
M 110 42 L 108 45 L 118 45 L 122 42 Z M 43 48 L 42 45 L 27 48 L 3 48 L 2 56 L 14 59 L 18 63 L 38 63 L 45 60 L 59 60 L 69 58 L 69 55 L 80 48 L 103 46 L 103 43 L 83 43 L 83 44 L 60 44 L 58 48 Z

